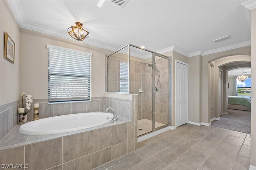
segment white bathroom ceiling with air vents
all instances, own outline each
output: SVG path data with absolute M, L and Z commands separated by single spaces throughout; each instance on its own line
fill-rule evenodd
M 101 8 L 99 0 L 8 2 L 22 28 L 72 40 L 67 28 L 81 22 L 90 32 L 81 43 L 110 50 L 132 43 L 190 57 L 250 45 L 243 0 L 129 0 L 123 8 L 108 0 Z M 228 34 L 228 40 L 210 41 Z

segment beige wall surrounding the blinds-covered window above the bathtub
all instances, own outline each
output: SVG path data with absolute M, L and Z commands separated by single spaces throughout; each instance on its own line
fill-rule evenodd
M 20 43 L 20 91 L 26 91 L 34 99 L 48 98 L 46 44 L 50 44 L 92 53 L 92 97 L 104 96 L 105 54 L 112 51 L 27 29 L 21 29 Z

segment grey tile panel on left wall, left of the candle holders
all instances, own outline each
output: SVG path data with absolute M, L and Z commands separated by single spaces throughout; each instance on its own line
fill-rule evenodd
M 18 124 L 19 101 L 0 106 L 0 141 Z

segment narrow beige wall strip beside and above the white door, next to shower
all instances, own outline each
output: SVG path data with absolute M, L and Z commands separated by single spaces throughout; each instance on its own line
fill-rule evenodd
M 176 125 L 175 118 L 175 60 L 188 63 L 188 57 L 173 51 L 172 53 L 172 126 Z M 188 101 L 189 102 L 189 101 Z

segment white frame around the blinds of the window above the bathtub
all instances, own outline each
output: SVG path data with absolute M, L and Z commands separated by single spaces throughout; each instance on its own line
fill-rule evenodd
M 48 71 L 48 83 L 47 83 L 47 85 L 48 85 L 48 88 L 47 88 L 48 89 L 48 103 L 51 104 L 51 103 L 70 103 L 70 102 L 91 101 L 91 98 L 92 98 L 92 53 L 88 53 L 88 52 L 84 52 L 84 51 L 78 51 L 78 50 L 69 49 L 69 48 L 65 48 L 65 47 L 59 47 L 59 46 L 55 46 L 55 45 L 49 45 L 49 44 L 46 45 L 46 48 L 48 49 L 48 69 L 47 69 L 47 71 Z M 49 89 L 49 76 L 50 76 L 49 49 L 60 50 L 62 52 L 67 51 L 67 52 L 71 52 L 71 53 L 78 53 L 80 55 L 87 55 L 86 57 L 88 57 L 88 56 L 90 57 L 90 63 L 89 63 L 89 65 L 90 65 L 90 76 L 88 76 L 88 77 L 90 77 L 90 83 L 89 83 L 90 92 L 89 92 L 88 98 L 84 98 L 84 99 L 81 99 L 81 98 L 75 99 L 74 97 L 73 97 L 73 99 L 72 98 L 68 98 L 68 99 L 65 99 L 65 98 L 50 99 L 49 98 L 49 90 L 50 90 Z M 80 77 L 82 77 L 82 76 L 80 76 Z

